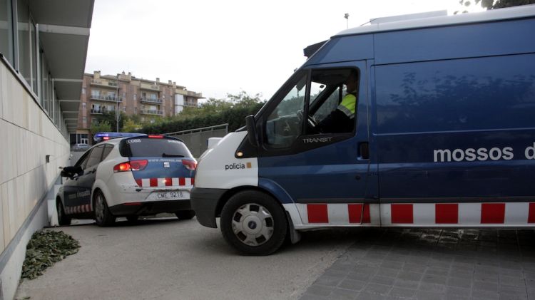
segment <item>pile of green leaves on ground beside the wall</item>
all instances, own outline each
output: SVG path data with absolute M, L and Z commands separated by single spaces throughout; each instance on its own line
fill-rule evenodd
M 31 236 L 26 246 L 26 259 L 22 265 L 22 278 L 34 279 L 55 262 L 78 252 L 80 244 L 64 232 L 39 231 Z

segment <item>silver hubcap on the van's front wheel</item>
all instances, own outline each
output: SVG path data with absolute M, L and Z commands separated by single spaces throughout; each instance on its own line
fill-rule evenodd
M 243 244 L 259 246 L 273 235 L 273 217 L 262 205 L 250 203 L 233 214 L 233 232 Z

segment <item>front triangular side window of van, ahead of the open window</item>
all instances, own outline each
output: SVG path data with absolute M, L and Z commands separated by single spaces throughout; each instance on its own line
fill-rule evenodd
M 297 78 L 297 83 L 267 117 L 265 135 L 267 144 L 272 147 L 290 147 L 301 135 L 306 83 L 306 74 Z

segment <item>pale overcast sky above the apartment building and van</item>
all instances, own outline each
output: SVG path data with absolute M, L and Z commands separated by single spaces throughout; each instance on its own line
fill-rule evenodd
M 244 90 L 269 99 L 305 62 L 303 48 L 346 29 L 346 13 L 351 28 L 460 8 L 458 0 L 95 0 L 86 73 L 158 77 L 206 98 Z

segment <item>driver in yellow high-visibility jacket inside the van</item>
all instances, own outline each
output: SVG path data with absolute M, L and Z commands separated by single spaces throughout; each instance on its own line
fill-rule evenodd
M 355 127 L 355 109 L 357 106 L 357 72 L 351 71 L 346 82 L 347 94 L 342 101 L 319 124 L 321 133 L 350 133 Z

